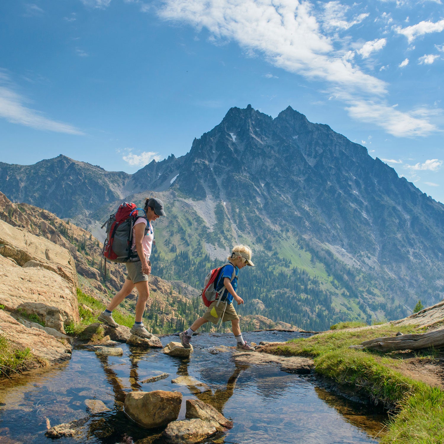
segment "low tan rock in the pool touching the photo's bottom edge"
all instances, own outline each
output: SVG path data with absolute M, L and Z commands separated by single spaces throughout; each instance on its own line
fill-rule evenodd
M 162 433 L 163 439 L 171 444 L 194 444 L 216 433 L 216 428 L 201 419 L 170 422 Z

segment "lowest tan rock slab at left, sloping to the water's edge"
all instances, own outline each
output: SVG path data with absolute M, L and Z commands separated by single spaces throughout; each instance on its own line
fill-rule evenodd
M 72 347 L 67 341 L 59 340 L 44 330 L 25 327 L 3 310 L 0 310 L 0 334 L 3 334 L 13 347 L 28 347 L 38 358 L 32 366 L 55 364 L 71 359 Z

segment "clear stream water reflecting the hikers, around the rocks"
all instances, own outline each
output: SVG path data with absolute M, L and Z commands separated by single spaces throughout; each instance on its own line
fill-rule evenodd
M 285 341 L 298 333 L 247 333 L 248 341 Z M 162 343 L 178 341 L 163 337 Z M 273 365 L 239 365 L 232 353 L 218 345 L 234 345 L 229 334 L 202 333 L 193 337 L 194 353 L 181 360 L 158 349 L 141 350 L 119 345 L 122 357 L 98 357 L 75 349 L 71 361 L 1 381 L 0 443 L 49 443 L 44 435 L 51 426 L 87 416 L 86 399 L 103 401 L 111 410 L 90 417 L 77 437 L 59 443 L 161 443 L 162 430 L 147 430 L 123 412 L 123 400 L 131 390 L 177 390 L 185 399 L 198 398 L 218 408 L 234 422 L 234 428 L 208 442 L 274 443 L 376 443 L 387 417 L 371 409 L 315 387 L 304 377 L 282 372 Z M 216 347 L 216 349 L 214 348 Z M 142 383 L 148 377 L 169 373 L 164 380 Z M 186 387 L 171 380 L 192 376 L 207 387 Z M 127 440 L 127 442 L 131 442 Z

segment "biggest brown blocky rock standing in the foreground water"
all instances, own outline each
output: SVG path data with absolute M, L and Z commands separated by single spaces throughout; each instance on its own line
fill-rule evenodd
M 130 392 L 123 404 L 125 413 L 145 428 L 164 426 L 179 416 L 182 393 L 155 390 Z

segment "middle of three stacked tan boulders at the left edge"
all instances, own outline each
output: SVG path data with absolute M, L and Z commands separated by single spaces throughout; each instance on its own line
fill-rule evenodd
M 35 314 L 60 333 L 65 333 L 64 325 L 80 321 L 72 285 L 59 274 L 41 267 L 22 268 L 0 256 L 0 276 L 0 304 L 7 311 Z

